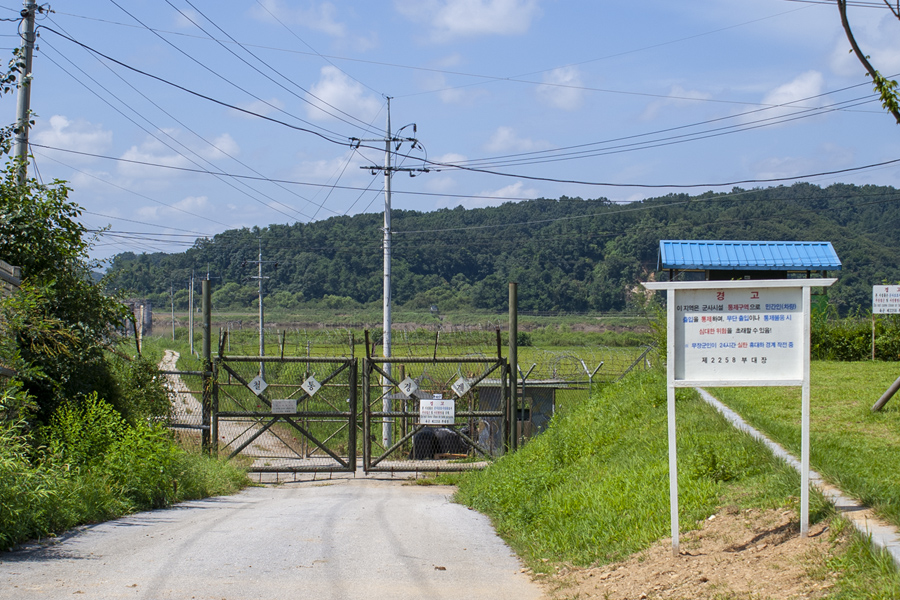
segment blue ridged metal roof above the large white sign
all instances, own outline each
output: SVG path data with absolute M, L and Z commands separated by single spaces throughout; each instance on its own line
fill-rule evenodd
M 831 242 L 660 240 L 660 269 L 837 271 Z

